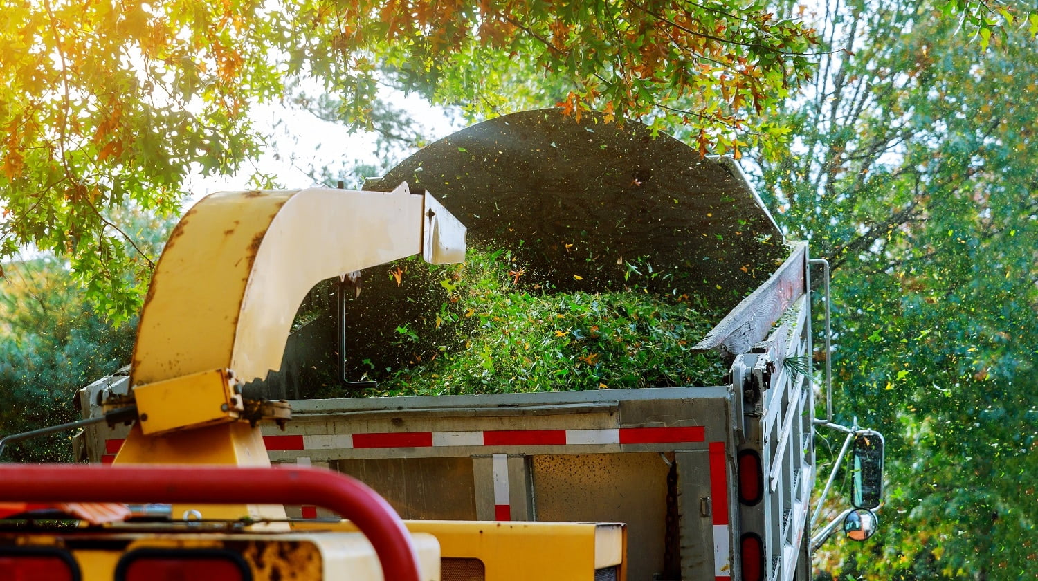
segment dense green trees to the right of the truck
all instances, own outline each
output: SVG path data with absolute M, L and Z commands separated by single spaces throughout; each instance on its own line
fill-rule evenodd
M 843 419 L 890 444 L 881 534 L 832 557 L 847 579 L 1020 579 L 1038 568 L 1038 27 L 834 6 L 843 50 L 790 102 L 792 155 L 762 164 L 781 222 L 837 269 Z

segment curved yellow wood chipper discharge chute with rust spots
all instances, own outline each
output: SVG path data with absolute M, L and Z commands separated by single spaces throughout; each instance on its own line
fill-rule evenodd
M 407 184 L 389 193 L 313 188 L 199 201 L 152 279 L 130 378 L 138 421 L 114 463 L 268 466 L 255 423 L 291 412 L 244 399 L 242 386 L 281 366 L 303 297 L 320 280 L 417 253 L 434 264 L 463 261 L 465 227 Z M 284 516 L 281 506 L 247 504 L 204 514 Z

